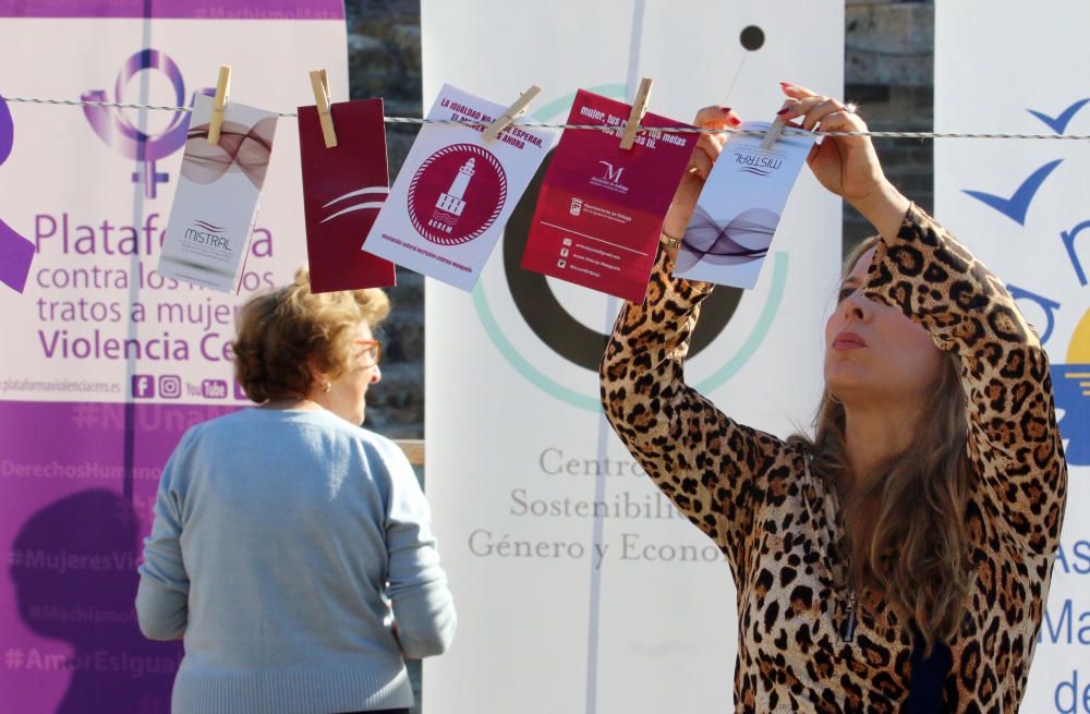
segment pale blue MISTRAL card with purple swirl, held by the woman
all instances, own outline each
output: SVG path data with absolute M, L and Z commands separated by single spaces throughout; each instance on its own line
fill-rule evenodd
M 765 131 L 767 122 L 748 122 Z M 814 136 L 780 134 L 768 150 L 764 136 L 735 134 L 723 147 L 678 249 L 674 276 L 736 288 L 752 288 L 795 180 Z

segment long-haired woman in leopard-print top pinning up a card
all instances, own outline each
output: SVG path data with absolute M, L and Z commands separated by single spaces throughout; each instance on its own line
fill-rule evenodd
M 865 131 L 837 100 L 785 93 L 779 114 L 803 129 Z M 1067 484 L 1044 350 L 1003 281 L 885 179 L 869 137 L 826 136 L 810 168 L 880 237 L 850 256 L 825 326 L 815 437 L 736 423 L 683 378 L 712 286 L 670 277 L 720 147 L 701 138 L 601 376 L 617 434 L 727 557 L 736 709 L 1016 712 Z

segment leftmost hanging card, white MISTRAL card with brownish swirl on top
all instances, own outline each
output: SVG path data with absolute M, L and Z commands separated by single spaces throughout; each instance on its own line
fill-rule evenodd
M 239 289 L 277 114 L 228 102 L 219 143 L 208 142 L 213 98 L 198 95 L 185 138 L 158 271 L 223 292 Z

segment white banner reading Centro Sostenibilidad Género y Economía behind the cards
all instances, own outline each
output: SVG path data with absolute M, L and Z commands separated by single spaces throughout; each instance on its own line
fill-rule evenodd
M 780 81 L 843 86 L 839 0 L 428 0 L 422 24 L 425 106 L 445 82 L 501 104 L 536 83 L 531 113 L 561 123 L 577 89 L 631 99 L 649 76 L 657 114 L 725 104 L 767 120 Z M 598 408 L 619 303 L 518 267 L 540 178 L 472 295 L 427 282 L 427 489 L 460 625 L 425 663 L 424 709 L 729 711 L 727 565 Z M 756 289 L 705 303 L 690 383 L 754 426 L 808 424 L 839 256 L 840 203 L 804 172 Z

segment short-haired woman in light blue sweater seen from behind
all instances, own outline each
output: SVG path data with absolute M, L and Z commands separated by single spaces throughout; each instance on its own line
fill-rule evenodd
M 141 629 L 184 640 L 174 714 L 407 712 L 404 657 L 450 644 L 427 503 L 359 426 L 388 311 L 305 271 L 243 307 L 235 373 L 259 406 L 182 438 L 140 569 Z

